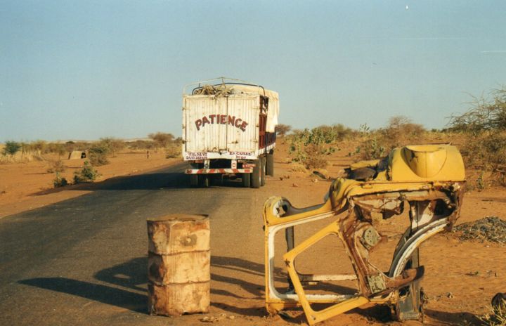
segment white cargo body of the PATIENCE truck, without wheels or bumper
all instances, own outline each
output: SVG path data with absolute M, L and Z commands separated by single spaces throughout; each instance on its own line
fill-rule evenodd
M 278 93 L 259 86 L 231 86 L 227 96 L 183 94 L 183 159 L 257 159 L 275 143 L 260 142 L 261 96 L 268 98 L 266 131 L 277 124 Z M 264 95 L 265 94 L 265 95 Z M 275 121 L 274 121 L 275 120 Z

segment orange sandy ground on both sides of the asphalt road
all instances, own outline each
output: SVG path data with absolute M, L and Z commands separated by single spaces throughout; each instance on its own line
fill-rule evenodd
M 311 171 L 303 171 L 290 163 L 286 145 L 278 142 L 275 158 L 275 177 L 268 177 L 266 186 L 259 190 L 252 190 L 252 201 L 258 213 L 264 200 L 271 195 L 283 195 L 290 199 L 297 207 L 306 207 L 323 202 L 323 196 L 330 186 L 313 176 Z M 356 160 L 349 157 L 348 152 L 353 148 L 342 148 L 335 155 L 329 157 L 327 171 L 329 176 L 337 176 L 347 164 Z M 137 174 L 148 169 L 162 167 L 165 164 L 179 162 L 164 159 L 163 155 L 152 155 L 146 159 L 145 153 L 122 153 L 111 159 L 111 164 L 100 167 L 103 178 L 119 176 L 121 174 Z M 77 169 L 82 162 L 68 162 L 69 167 L 65 176 L 71 176 L 72 170 Z M 54 192 L 51 188 L 53 174 L 46 174 L 47 164 L 31 162 L 15 165 L 0 166 L 0 216 L 13 214 L 16 211 L 39 207 L 50 202 L 57 202 L 84 193 L 79 185 L 63 188 Z M 506 216 L 506 189 L 490 188 L 483 191 L 472 191 L 465 194 L 462 214 L 458 223 L 475 221 L 485 216 Z M 297 242 L 315 233 L 330 221 L 318 221 L 311 226 L 296 230 Z M 384 247 L 378 248 L 372 257 L 378 266 L 388 266 L 391 261 L 392 248 L 398 236 L 406 227 L 406 216 L 398 216 L 387 220 L 382 225 L 382 233 L 389 235 L 391 241 Z M 258 235 L 261 239 L 261 221 L 256 219 L 240 227 L 241 234 L 249 238 Z M 257 238 L 257 237 L 255 237 Z M 233 243 L 234 245 L 231 245 Z M 283 254 L 283 237 L 277 239 L 278 250 L 276 256 L 277 287 L 286 287 L 286 276 L 280 255 Z M 219 256 L 213 256 L 212 266 L 212 308 L 207 315 L 216 318 L 219 325 L 294 325 L 305 322 L 300 309 L 290 311 L 291 318 L 274 316 L 266 317 L 264 309 L 264 252 L 261 246 L 251 246 L 251 252 L 243 255 L 250 244 L 237 241 L 235 234 L 230 237 L 212 239 L 212 246 L 219 247 Z M 422 264 L 426 273 L 422 280 L 424 292 L 429 297 L 425 307 L 426 325 L 479 325 L 476 315 L 487 311 L 492 296 L 497 292 L 506 291 L 506 247 L 491 242 L 460 241 L 453 234 L 441 234 L 432 237 L 421 248 Z M 257 257 L 252 261 L 251 256 Z M 351 271 L 342 246 L 335 239 L 323 240 L 301 255 L 297 261 L 299 270 L 316 273 L 346 273 Z M 386 269 L 386 268 L 385 268 Z M 353 292 L 353 284 L 344 284 L 346 291 Z M 330 287 L 336 289 L 337 287 Z M 351 288 L 351 289 L 350 289 Z M 228 317 L 233 315 L 234 319 Z M 183 324 L 200 323 L 204 315 L 183 316 L 176 320 Z M 179 324 L 178 322 L 178 324 Z M 323 322 L 321 325 L 401 325 L 388 318 L 388 309 L 383 306 L 369 306 L 357 308 L 349 313 L 339 315 Z M 404 322 L 402 325 L 422 325 L 418 321 Z

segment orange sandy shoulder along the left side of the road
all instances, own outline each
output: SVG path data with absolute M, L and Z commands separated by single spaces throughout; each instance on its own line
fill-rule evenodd
M 24 163 L 0 164 L 0 219 L 5 216 L 27 211 L 48 204 L 60 202 L 89 193 L 82 185 L 67 185 L 53 188 L 54 173 L 49 173 L 51 162 L 56 156 L 44 156 L 44 160 Z M 110 164 L 98 167 L 100 177 L 105 181 L 116 176 L 141 174 L 181 162 L 181 159 L 167 159 L 163 151 L 146 155 L 145 150 L 125 150 L 110 157 Z M 62 159 L 65 171 L 60 176 L 72 182 L 74 171 L 82 169 L 84 159 Z

